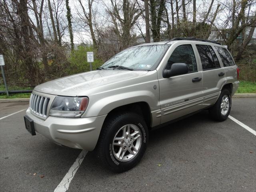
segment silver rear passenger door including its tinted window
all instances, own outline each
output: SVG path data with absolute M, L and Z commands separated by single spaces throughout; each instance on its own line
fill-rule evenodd
M 196 43 L 196 49 L 202 65 L 204 96 L 203 106 L 210 106 L 216 102 L 222 86 L 225 84 L 225 70 L 220 66 L 218 57 L 211 44 Z

